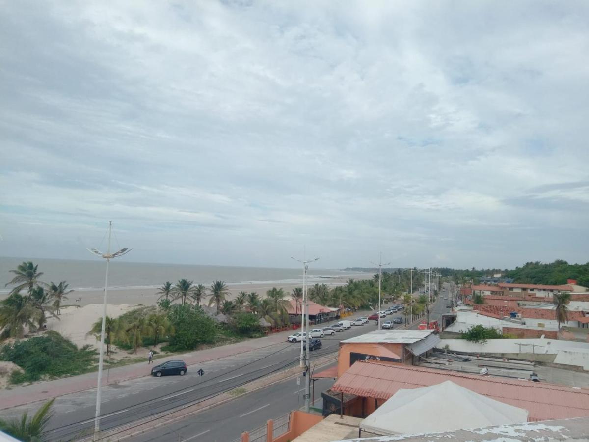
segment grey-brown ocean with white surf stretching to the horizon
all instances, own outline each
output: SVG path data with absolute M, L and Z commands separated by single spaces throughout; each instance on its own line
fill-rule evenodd
M 0 293 L 7 293 L 5 287 L 14 274 L 10 271 L 28 258 L 0 257 Z M 43 272 L 41 281 L 67 281 L 71 289 L 77 291 L 104 288 L 104 259 L 70 260 L 35 258 L 32 262 Z M 329 282 L 329 278 L 354 278 L 365 273 L 340 271 L 336 269 L 315 269 L 307 271 L 307 282 Z M 224 281 L 227 285 L 237 283 L 270 282 L 278 284 L 297 284 L 303 281 L 302 269 L 280 269 L 263 267 L 207 266 L 188 264 L 156 264 L 111 260 L 108 269 L 108 287 L 111 289 L 135 289 L 160 287 L 164 282 L 172 283 L 186 278 L 194 283 L 210 286 L 213 281 Z

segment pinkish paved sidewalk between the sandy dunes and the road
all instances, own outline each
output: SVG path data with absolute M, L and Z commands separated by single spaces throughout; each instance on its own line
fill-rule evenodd
M 284 331 L 269 335 L 263 338 L 248 339 L 247 341 L 237 342 L 237 344 L 223 345 L 221 347 L 209 348 L 205 350 L 193 350 L 186 354 L 168 355 L 169 358 L 183 359 L 187 365 L 196 365 L 201 362 L 211 361 L 234 356 L 247 351 L 257 350 L 280 342 L 286 343 L 286 337 L 292 334 L 293 330 Z M 164 358 L 162 358 L 163 361 Z M 158 359 L 154 360 L 157 365 Z M 118 382 L 128 381 L 134 378 L 140 378 L 150 375 L 151 366 L 147 365 L 147 355 L 145 362 L 138 364 L 125 365 L 124 367 L 111 368 L 102 372 L 102 386 L 117 384 Z M 0 410 L 5 408 L 18 407 L 37 401 L 46 401 L 51 398 L 78 391 L 90 390 L 96 388 L 98 374 L 96 371 L 78 376 L 56 379 L 52 381 L 38 382 L 32 385 L 19 385 L 12 390 L 0 390 Z M 108 382 L 107 382 L 108 378 Z

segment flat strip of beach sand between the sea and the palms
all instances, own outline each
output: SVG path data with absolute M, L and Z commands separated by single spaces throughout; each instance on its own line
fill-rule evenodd
M 372 278 L 372 275 L 367 275 L 366 279 Z M 359 278 L 356 278 L 359 279 Z M 330 287 L 335 287 L 338 285 L 345 285 L 348 281 L 346 278 L 326 278 L 325 283 Z M 234 299 L 237 294 L 241 291 L 246 292 L 257 292 L 260 297 L 266 296 L 266 291 L 272 289 L 273 287 L 282 288 L 286 295 L 289 295 L 290 292 L 296 287 L 302 286 L 301 284 L 280 284 L 280 283 L 271 283 L 271 282 L 254 282 L 254 283 L 238 283 L 234 285 L 229 285 L 230 294 L 227 296 L 227 299 Z M 307 288 L 309 285 L 307 285 Z M 157 302 L 158 296 L 156 293 L 158 292 L 157 288 L 143 288 L 143 289 L 109 289 L 108 290 L 108 304 L 110 305 L 121 305 L 121 304 L 142 304 L 142 305 L 155 305 Z M 90 304 L 102 304 L 102 296 L 104 295 L 102 290 L 97 291 L 74 291 L 70 293 L 68 301 L 65 301 L 65 304 L 75 304 L 80 306 L 90 305 Z M 80 299 L 80 301 L 75 301 L 76 299 Z M 209 297 L 205 299 L 205 303 L 209 302 Z

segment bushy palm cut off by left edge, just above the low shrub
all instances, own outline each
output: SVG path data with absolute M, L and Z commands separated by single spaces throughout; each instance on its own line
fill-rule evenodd
M 29 299 L 16 292 L 0 301 L 0 339 L 22 338 L 25 326 L 29 329 L 35 327 L 37 310 Z

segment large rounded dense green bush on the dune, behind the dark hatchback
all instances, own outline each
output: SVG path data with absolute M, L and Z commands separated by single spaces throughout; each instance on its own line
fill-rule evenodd
M 174 336 L 167 348 L 174 350 L 191 350 L 200 344 L 212 344 L 217 336 L 216 321 L 203 310 L 191 304 L 175 304 L 168 312 L 168 318 L 174 326 Z

